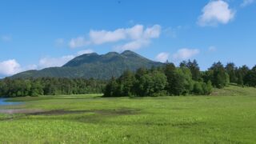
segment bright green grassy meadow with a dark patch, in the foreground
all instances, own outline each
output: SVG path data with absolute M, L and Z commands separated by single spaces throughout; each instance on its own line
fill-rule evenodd
M 211 96 L 12 100 L 24 103 L 0 107 L 21 110 L 0 114 L 0 143 L 256 143 L 255 88 L 229 86 Z

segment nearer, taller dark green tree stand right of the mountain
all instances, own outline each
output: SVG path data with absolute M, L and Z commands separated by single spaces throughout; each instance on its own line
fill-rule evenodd
M 256 86 L 256 66 L 236 67 L 234 63 L 223 66 L 215 62 L 208 70 L 200 71 L 198 62 L 183 61 L 178 67 L 166 62 L 165 66 L 150 70 L 126 70 L 119 78 L 111 78 L 104 91 L 105 97 L 207 95 L 212 88 L 223 88 L 230 82 L 239 86 Z

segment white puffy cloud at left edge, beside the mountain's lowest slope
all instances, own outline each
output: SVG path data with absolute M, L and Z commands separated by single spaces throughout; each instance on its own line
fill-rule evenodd
M 22 68 L 15 59 L 0 62 L 0 75 L 10 76 L 20 71 L 22 71 Z

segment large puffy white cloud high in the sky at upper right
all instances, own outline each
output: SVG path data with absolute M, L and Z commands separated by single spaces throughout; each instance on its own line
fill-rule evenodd
M 234 18 L 235 12 L 230 9 L 227 2 L 222 0 L 210 1 L 203 9 L 198 18 L 200 26 L 218 26 L 219 23 L 227 24 Z

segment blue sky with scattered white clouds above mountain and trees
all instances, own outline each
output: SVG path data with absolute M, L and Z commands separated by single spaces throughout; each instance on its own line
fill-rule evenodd
M 178 64 L 256 64 L 254 0 L 2 0 L 0 77 L 134 50 Z

